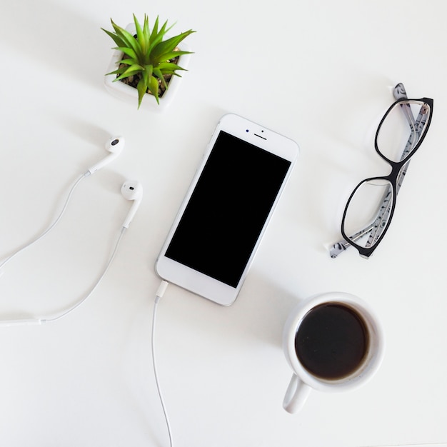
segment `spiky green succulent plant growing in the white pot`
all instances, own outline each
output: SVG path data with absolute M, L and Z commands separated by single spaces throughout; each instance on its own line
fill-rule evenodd
M 111 71 L 109 74 L 116 74 L 114 81 L 130 78 L 133 76 L 137 80 L 136 89 L 138 90 L 138 108 L 146 92 L 150 92 L 159 102 L 159 87 L 168 88 L 166 79 L 171 76 L 180 76 L 176 71 L 184 70 L 176 64 L 178 57 L 182 54 L 190 54 L 190 51 L 180 51 L 178 45 L 189 34 L 194 33 L 191 29 L 163 40 L 166 33 L 172 28 L 168 27 L 168 21 L 159 29 L 159 17 L 157 16 L 152 31 L 149 29 L 149 18 L 144 14 L 144 24 L 141 27 L 134 14 L 134 23 L 136 34 L 132 35 L 129 31 L 116 25 L 111 19 L 114 32 L 105 31 L 117 45 L 114 49 L 122 51 L 123 59 L 119 61 L 119 68 Z

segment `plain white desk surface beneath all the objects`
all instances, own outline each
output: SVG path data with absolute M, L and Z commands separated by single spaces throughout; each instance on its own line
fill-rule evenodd
M 99 288 L 46 326 L 0 328 L 5 447 L 167 446 L 150 357 L 154 262 L 209 136 L 228 112 L 295 139 L 301 156 L 233 306 L 169 286 L 156 346 L 175 446 L 403 446 L 447 442 L 446 41 L 442 0 L 1 0 L 1 257 L 36 236 L 69 187 L 126 137 L 113 164 L 0 279 L 1 318 L 76 303 L 104 267 L 138 179 L 144 200 Z M 113 43 L 100 27 L 142 19 L 196 29 L 174 104 L 136 110 L 109 95 Z M 434 99 L 393 224 L 368 261 L 327 247 L 358 181 L 388 168 L 373 132 L 402 81 Z M 349 393 L 281 403 L 281 331 L 303 298 L 346 291 L 381 318 L 386 356 Z

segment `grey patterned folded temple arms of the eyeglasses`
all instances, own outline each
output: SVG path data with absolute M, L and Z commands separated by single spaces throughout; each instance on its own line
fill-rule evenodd
M 403 86 L 402 83 L 399 83 L 394 87 L 393 96 L 396 99 L 396 101 L 398 99 L 408 99 L 408 96 L 406 95 L 405 87 Z M 418 129 L 421 126 L 421 121 L 425 121 L 425 119 L 423 119 L 423 118 L 426 116 L 423 114 L 419 114 L 418 118 L 415 121 L 414 116 L 411 112 L 411 107 L 409 104 L 401 104 L 401 110 L 403 111 L 403 114 L 405 115 L 411 129 L 416 129 L 416 131 L 418 131 Z M 410 135 L 410 138 L 408 139 L 408 141 L 406 143 L 405 149 L 402 152 L 401 159 L 406 157 L 406 155 L 408 154 L 408 152 L 411 149 L 411 146 L 413 144 L 412 136 L 413 136 L 413 134 Z M 401 172 L 399 172 L 399 174 L 398 174 L 396 194 L 398 194 L 398 191 L 401 188 L 401 184 L 403 182 L 403 177 L 405 176 L 406 170 L 408 169 L 408 164 L 410 164 L 410 161 L 408 161 L 408 163 L 405 164 L 405 166 L 403 166 L 403 168 L 401 169 Z M 379 206 L 378 215 L 376 216 L 376 219 L 374 219 L 373 223 L 368 225 L 366 228 L 363 228 L 363 230 L 358 231 L 357 233 L 353 234 L 353 236 L 351 236 L 351 239 L 353 241 L 356 241 L 358 238 L 363 237 L 368 232 L 373 231 L 373 228 L 375 226 L 376 226 L 376 231 L 374 233 L 371 233 L 371 235 L 369 236 L 368 241 L 366 243 L 366 246 L 369 246 L 374 241 L 375 238 L 380 236 L 382 229 L 379 228 L 380 226 L 376 225 L 376 223 L 378 221 L 381 221 L 383 219 L 383 216 L 388 216 L 389 212 L 391 211 L 391 206 L 389 205 L 389 202 L 388 202 L 388 205 L 386 204 L 386 202 L 388 201 L 388 195 L 390 194 L 390 192 L 391 191 L 389 191 L 389 189 L 388 189 L 385 192 L 385 194 L 383 195 L 383 202 L 382 202 L 381 206 Z M 349 246 L 351 246 L 351 243 L 346 241 L 346 239 L 341 238 L 339 241 L 334 243 L 333 246 L 331 247 L 331 249 L 329 251 L 331 258 L 336 258 L 340 253 L 345 251 L 346 248 L 349 248 Z

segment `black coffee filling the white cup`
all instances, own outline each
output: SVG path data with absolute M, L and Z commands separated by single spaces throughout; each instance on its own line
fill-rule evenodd
M 313 375 L 328 380 L 349 376 L 368 351 L 368 331 L 363 318 L 341 303 L 314 307 L 296 331 L 295 351 Z

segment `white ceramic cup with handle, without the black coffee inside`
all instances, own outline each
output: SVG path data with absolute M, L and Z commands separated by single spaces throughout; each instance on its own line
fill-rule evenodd
M 361 361 L 346 376 L 327 378 L 318 376 L 309 368 L 303 366 L 303 358 L 296 353 L 296 335 L 303 321 L 311 315 L 311 311 L 317 306 L 335 305 L 348 308 L 360 317 L 366 335 L 366 349 Z M 343 311 L 343 309 L 342 309 Z M 306 325 L 312 320 L 307 320 Z M 304 331 L 305 326 L 301 326 Z M 283 400 L 283 408 L 289 413 L 294 413 L 303 407 L 311 389 L 318 391 L 346 391 L 363 385 L 378 370 L 383 358 L 383 331 L 374 316 L 371 308 L 350 293 L 330 292 L 312 296 L 296 306 L 288 317 L 283 331 L 283 350 L 288 364 L 293 370 L 293 376 L 288 385 L 286 396 Z

